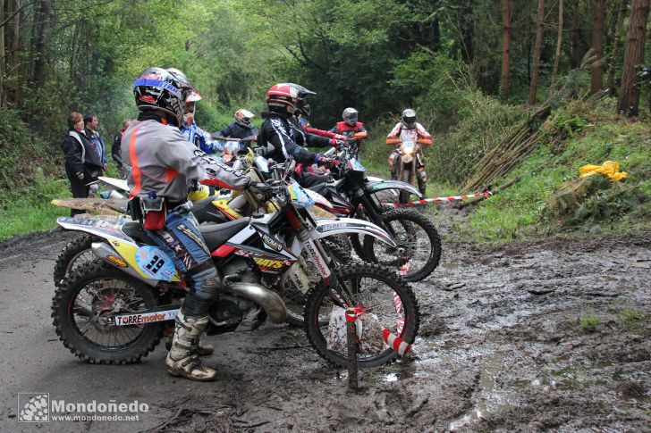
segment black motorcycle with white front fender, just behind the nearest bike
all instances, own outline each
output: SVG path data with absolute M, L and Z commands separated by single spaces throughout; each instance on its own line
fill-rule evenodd
M 326 152 L 325 156 L 334 156 L 338 162 L 338 169 L 333 171 L 335 180 L 309 189 L 332 203 L 329 212 L 371 221 L 391 234 L 397 246 L 388 248 L 380 246 L 372 237 L 352 235 L 351 244 L 363 260 L 397 268 L 407 281 L 427 278 L 441 260 L 441 238 L 434 224 L 411 209 L 387 211 L 376 196 L 389 189 L 420 196 L 418 189 L 397 180 L 368 180 L 366 169 L 354 158 L 352 150 L 352 146 L 344 145 L 337 154 L 334 149 Z

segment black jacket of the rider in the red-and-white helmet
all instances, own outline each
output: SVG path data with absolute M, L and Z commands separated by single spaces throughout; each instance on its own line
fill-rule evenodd
M 316 154 L 298 144 L 297 135 L 300 134 L 297 133 L 297 129 L 292 128 L 285 116 L 276 112 L 263 112 L 262 118 L 265 121 L 258 134 L 258 146 L 266 148 L 267 158 L 272 158 L 275 162 L 285 162 L 287 158 L 291 157 L 296 162 L 304 164 L 315 162 Z M 302 144 L 305 138 L 300 137 L 300 140 Z

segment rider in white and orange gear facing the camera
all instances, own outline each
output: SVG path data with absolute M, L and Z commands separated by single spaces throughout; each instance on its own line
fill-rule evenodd
M 386 136 L 386 144 L 389 146 L 396 146 L 393 152 L 389 155 L 389 171 L 391 171 L 391 179 L 396 179 L 398 176 L 398 155 L 399 147 L 402 140 L 414 140 L 422 146 L 432 146 L 432 136 L 429 135 L 427 129 L 416 121 L 416 112 L 408 108 L 402 112 L 402 121 L 399 121 Z M 420 193 L 425 195 L 427 188 L 427 173 L 425 172 L 425 159 L 422 152 L 418 150 L 416 155 L 416 179 L 418 179 L 418 189 Z

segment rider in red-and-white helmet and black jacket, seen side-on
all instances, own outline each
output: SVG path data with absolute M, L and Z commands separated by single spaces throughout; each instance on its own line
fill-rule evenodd
M 294 113 L 298 103 L 299 92 L 289 83 L 275 84 L 266 92 L 268 112 L 262 113 L 265 120 L 258 135 L 258 153 L 275 162 L 285 162 L 294 158 L 296 162 L 311 165 L 332 165 L 333 161 L 320 154 L 313 154 L 303 146 L 309 144 L 308 136 L 292 122 L 296 121 Z M 317 136 L 313 136 L 317 137 Z M 323 137 L 317 137 L 323 138 Z M 302 185 L 309 187 L 321 183 L 320 177 L 304 176 Z

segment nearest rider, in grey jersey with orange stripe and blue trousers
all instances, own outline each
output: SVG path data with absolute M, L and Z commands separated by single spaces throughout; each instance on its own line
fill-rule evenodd
M 199 360 L 199 337 L 208 324 L 208 308 L 221 289 L 221 278 L 188 201 L 192 183 L 206 177 L 200 154 L 179 131 L 185 101 L 192 91 L 182 74 L 148 68 L 133 83 L 138 120 L 123 134 L 124 162 L 131 166 L 131 211 L 143 210 L 143 227 L 156 245 L 185 274 L 188 295 L 176 316 L 172 348 L 165 359 L 173 376 L 193 380 L 215 379 L 216 371 Z M 264 189 L 251 185 L 241 172 L 218 165 L 214 174 L 232 189 Z M 160 206 L 160 207 L 159 207 Z M 159 209 L 156 212 L 156 209 Z M 162 210 L 160 210 L 162 209 Z

